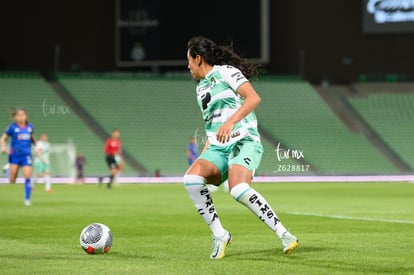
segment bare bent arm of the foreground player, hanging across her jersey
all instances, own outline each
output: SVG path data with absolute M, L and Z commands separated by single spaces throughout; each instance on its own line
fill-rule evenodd
M 226 123 L 224 123 L 223 126 L 218 129 L 217 140 L 222 143 L 230 140 L 231 131 L 233 130 L 234 125 L 245 118 L 248 114 L 253 112 L 261 101 L 260 96 L 248 81 L 240 85 L 240 87 L 237 89 L 237 93 L 245 100 L 237 112 L 235 112 L 226 121 Z

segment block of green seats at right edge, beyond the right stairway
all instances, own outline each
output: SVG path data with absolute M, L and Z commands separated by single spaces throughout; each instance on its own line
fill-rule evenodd
M 393 85 L 394 87 L 396 85 Z M 404 85 L 401 85 L 404 86 Z M 414 136 L 414 93 L 392 93 L 388 86 L 356 84 L 356 96 L 348 96 L 350 104 L 403 161 L 414 168 L 412 137 Z M 376 90 L 377 92 L 375 93 Z

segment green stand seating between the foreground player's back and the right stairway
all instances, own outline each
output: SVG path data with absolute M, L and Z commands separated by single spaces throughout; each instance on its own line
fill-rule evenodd
M 262 97 L 261 126 L 321 174 L 384 174 L 398 170 L 369 140 L 335 116 L 315 89 L 299 79 L 262 77 L 254 83 Z

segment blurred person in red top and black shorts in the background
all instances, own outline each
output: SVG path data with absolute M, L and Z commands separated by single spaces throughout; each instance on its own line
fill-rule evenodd
M 112 135 L 105 142 L 104 152 L 106 163 L 108 164 L 111 174 L 108 176 L 109 181 L 107 183 L 108 189 L 111 188 L 112 183 L 116 175 L 123 168 L 122 154 L 121 154 L 121 132 L 118 129 L 112 131 Z M 102 184 L 103 177 L 99 178 L 99 184 Z

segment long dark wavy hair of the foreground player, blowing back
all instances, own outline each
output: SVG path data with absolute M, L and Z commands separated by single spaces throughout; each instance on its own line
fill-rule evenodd
M 205 62 L 212 66 L 231 65 L 238 68 L 248 79 L 258 74 L 258 67 L 260 65 L 251 64 L 245 59 L 242 59 L 233 51 L 232 45 L 217 45 L 209 38 L 196 36 L 188 41 L 187 49 L 192 58 L 200 55 L 204 58 Z

